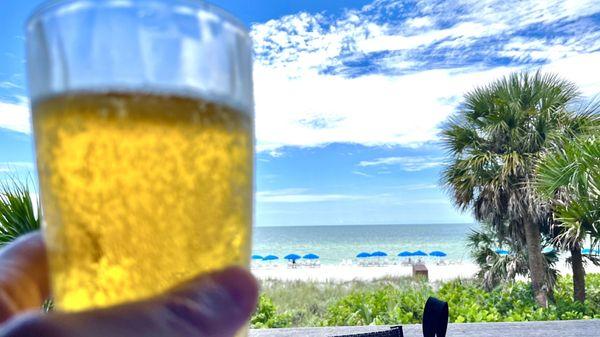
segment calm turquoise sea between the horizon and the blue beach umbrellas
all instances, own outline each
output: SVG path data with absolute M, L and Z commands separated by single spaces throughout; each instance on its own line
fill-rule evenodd
M 273 254 L 280 259 L 295 253 L 315 253 L 323 264 L 339 264 L 360 252 L 441 250 L 447 260 L 466 261 L 465 238 L 472 224 L 364 225 L 311 227 L 257 227 L 253 254 Z

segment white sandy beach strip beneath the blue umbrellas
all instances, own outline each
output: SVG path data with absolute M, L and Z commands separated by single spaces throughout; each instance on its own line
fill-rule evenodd
M 557 263 L 561 274 L 571 274 L 570 266 L 564 262 Z M 456 278 L 472 278 L 478 268 L 473 263 L 458 263 L 449 265 L 427 264 L 429 281 L 448 281 Z M 600 273 L 600 267 L 588 264 L 588 273 Z M 252 268 L 252 273 L 259 280 L 278 279 L 286 281 L 332 281 L 344 282 L 352 280 L 369 281 L 383 277 L 411 276 L 412 267 L 403 265 L 387 266 L 357 266 L 357 265 L 322 265 L 319 267 L 301 266 L 289 268 L 284 264 L 259 266 Z

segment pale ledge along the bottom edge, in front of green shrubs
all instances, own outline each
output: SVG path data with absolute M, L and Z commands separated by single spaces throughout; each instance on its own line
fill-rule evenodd
M 423 336 L 421 326 L 404 325 L 404 336 Z M 388 326 L 326 327 L 250 330 L 251 337 L 330 337 L 389 329 Z M 518 323 L 454 323 L 448 337 L 598 337 L 600 320 Z

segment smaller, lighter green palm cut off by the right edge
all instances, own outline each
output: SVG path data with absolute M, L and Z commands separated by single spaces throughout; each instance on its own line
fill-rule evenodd
M 573 297 L 585 301 L 582 242 L 600 240 L 600 140 L 578 139 L 545 156 L 537 167 L 536 186 L 553 201 L 556 242 L 570 250 Z M 593 261 L 597 262 L 597 260 Z

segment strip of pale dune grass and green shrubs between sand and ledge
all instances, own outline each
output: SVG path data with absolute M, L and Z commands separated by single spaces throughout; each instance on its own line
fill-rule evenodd
M 518 322 L 600 318 L 600 274 L 586 276 L 587 300 L 573 301 L 570 276 L 560 277 L 554 302 L 535 304 L 525 282 L 486 291 L 473 280 L 435 285 L 409 278 L 373 282 L 263 282 L 263 294 L 252 326 L 339 326 L 420 323 L 429 296 L 447 301 L 450 321 Z M 268 297 L 267 297 L 268 296 Z

